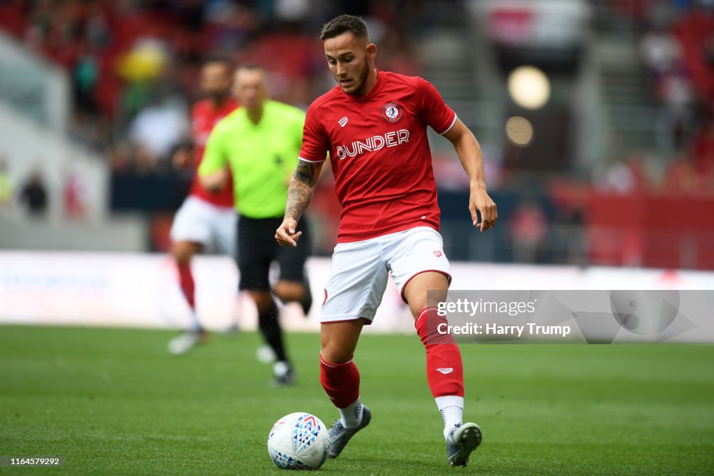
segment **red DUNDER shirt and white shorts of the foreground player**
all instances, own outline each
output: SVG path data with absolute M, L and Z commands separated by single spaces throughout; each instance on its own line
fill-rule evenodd
M 426 127 L 444 134 L 454 123 L 431 83 L 385 71 L 366 96 L 336 86 L 308 108 L 300 160 L 330 153 L 343 207 L 323 322 L 371 320 L 390 271 L 401 292 L 423 271 L 449 276 Z

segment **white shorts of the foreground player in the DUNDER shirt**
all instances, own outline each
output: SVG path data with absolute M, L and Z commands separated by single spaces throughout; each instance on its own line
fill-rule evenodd
M 369 240 L 338 243 L 325 286 L 321 322 L 373 320 L 390 271 L 402 299 L 404 287 L 419 273 L 438 271 L 451 282 L 441 235 L 428 226 L 418 226 Z

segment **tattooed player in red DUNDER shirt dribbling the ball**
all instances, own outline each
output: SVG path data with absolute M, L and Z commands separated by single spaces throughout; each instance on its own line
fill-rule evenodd
M 320 381 L 340 412 L 330 430 L 328 455 L 340 455 L 371 420 L 360 401 L 360 377 L 352 359 L 391 271 L 426 347 L 427 381 L 443 417 L 448 462 L 465 466 L 481 444 L 481 429 L 462 423 L 458 346 L 453 339 L 436 339 L 436 326 L 445 319 L 435 305 L 446 298 L 451 276 L 438 233 L 440 211 L 426 126 L 453 143 L 471 183 L 473 225 L 486 231 L 496 223 L 497 213 L 486 193 L 481 149 L 431 83 L 375 69 L 376 46 L 362 19 L 338 16 L 323 26 L 321 39 L 338 85 L 308 108 L 300 161 L 276 240 L 285 246 L 299 243 L 296 223 L 329 152 L 343 211 L 321 319 Z M 438 291 L 441 298 L 432 295 L 427 301 L 427 290 Z

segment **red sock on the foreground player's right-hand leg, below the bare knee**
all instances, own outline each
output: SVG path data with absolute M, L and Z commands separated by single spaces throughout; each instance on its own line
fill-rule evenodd
M 424 308 L 414 326 L 426 347 L 426 380 L 431 395 L 463 397 L 463 363 L 461 352 L 451 334 L 438 332 L 438 325 L 446 318 L 436 313 L 436 308 Z

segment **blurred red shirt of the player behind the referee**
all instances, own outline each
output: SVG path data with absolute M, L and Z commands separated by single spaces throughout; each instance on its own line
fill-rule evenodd
M 218 121 L 228 116 L 238 107 L 238 103 L 232 98 L 228 98 L 220 107 L 214 108 L 210 99 L 198 101 L 191 110 L 191 131 L 193 131 L 193 144 L 196 147 L 193 183 L 191 183 L 191 196 L 201 198 L 203 201 L 212 203 L 215 206 L 233 207 L 233 178 L 228 181 L 226 188 L 218 193 L 211 193 L 201 187 L 198 182 L 198 166 L 203 160 L 203 151 L 206 150 L 206 141 L 216 126 Z

